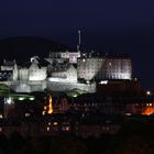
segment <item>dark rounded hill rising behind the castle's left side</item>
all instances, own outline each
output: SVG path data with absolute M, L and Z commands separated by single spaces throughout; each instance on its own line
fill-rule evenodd
M 47 56 L 50 51 L 65 51 L 68 47 L 59 43 L 33 36 L 19 36 L 0 40 L 0 61 L 24 61 L 31 56 Z

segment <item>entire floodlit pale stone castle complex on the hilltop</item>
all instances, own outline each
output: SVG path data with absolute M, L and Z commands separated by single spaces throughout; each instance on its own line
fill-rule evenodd
M 31 58 L 30 66 L 18 66 L 15 61 L 3 62 L 0 70 L 2 84 L 16 92 L 66 91 L 80 89 L 96 92 L 96 81 L 132 79 L 132 63 L 128 56 L 99 53 L 53 52 L 41 66 L 40 58 Z

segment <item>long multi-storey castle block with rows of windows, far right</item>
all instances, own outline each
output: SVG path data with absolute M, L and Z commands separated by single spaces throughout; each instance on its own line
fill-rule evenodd
M 79 58 L 77 66 L 78 78 L 91 80 L 131 79 L 132 62 L 130 58 Z

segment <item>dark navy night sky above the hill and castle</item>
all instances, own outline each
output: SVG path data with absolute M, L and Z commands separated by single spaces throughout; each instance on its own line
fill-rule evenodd
M 3 0 L 0 38 L 43 36 L 99 52 L 130 53 L 135 76 L 154 90 L 153 0 Z

